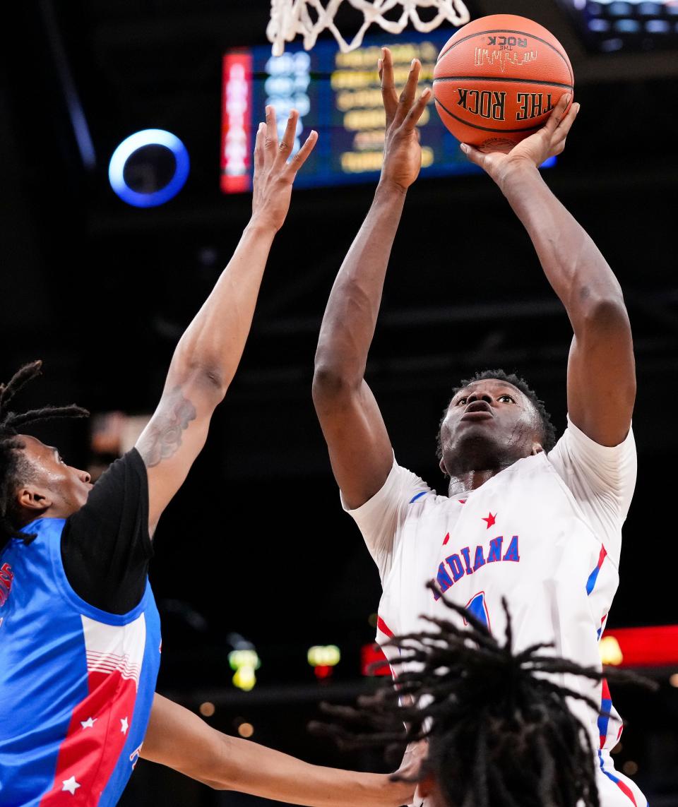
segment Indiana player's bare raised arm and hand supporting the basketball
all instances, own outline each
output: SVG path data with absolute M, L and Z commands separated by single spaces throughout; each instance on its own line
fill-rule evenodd
M 462 146 L 495 180 L 532 239 L 546 278 L 565 306 L 574 338 L 567 363 L 567 409 L 572 422 L 600 445 L 618 445 L 629 432 L 635 364 L 621 287 L 605 258 L 538 172 L 559 154 L 579 111 L 562 98 L 546 126 L 508 154 Z

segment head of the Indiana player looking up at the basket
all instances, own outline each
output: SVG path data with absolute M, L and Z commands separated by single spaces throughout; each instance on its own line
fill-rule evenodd
M 438 458 L 442 472 L 458 479 L 496 473 L 554 444 L 550 415 L 525 380 L 485 370 L 454 389 L 440 423 Z

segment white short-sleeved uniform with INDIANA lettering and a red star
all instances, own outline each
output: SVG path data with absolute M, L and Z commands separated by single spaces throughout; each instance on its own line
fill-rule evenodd
M 475 613 L 501 641 L 508 601 L 514 650 L 553 642 L 553 653 L 601 667 L 598 642 L 619 583 L 621 525 L 636 478 L 633 433 L 613 448 L 598 445 L 568 419 L 555 448 L 515 462 L 470 493 L 450 498 L 395 461 L 366 504 L 349 511 L 383 585 L 377 641 L 431 629 L 421 615 L 450 618 L 425 587 Z M 387 653 L 391 649 L 387 648 Z M 580 701 L 572 709 L 590 726 L 598 752 L 603 807 L 647 800 L 614 770 L 609 751 L 621 736 L 605 684 L 563 676 L 613 713 L 598 718 Z

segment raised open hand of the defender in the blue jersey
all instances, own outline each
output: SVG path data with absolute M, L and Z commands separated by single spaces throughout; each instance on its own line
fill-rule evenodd
M 293 109 L 287 119 L 283 140 L 278 144 L 278 127 L 273 107 L 266 107 L 266 123 L 259 123 L 254 144 L 252 220 L 279 230 L 290 209 L 292 183 L 318 140 L 313 130 L 299 151 L 288 162 L 295 142 L 299 112 Z

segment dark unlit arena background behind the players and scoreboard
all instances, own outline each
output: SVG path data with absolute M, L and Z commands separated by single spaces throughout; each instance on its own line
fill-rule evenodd
M 548 181 L 621 282 L 638 363 L 638 488 L 609 627 L 676 622 L 676 51 L 588 52 L 553 0 L 470 7 L 474 17 L 533 17 L 571 57 L 582 108 Z M 15 12 L 0 83 L 0 377 L 43 358 L 27 406 L 74 400 L 92 412 L 151 412 L 182 328 L 248 219 L 249 198 L 219 190 L 220 56 L 265 41 L 269 4 L 31 0 Z M 94 144 L 89 166 L 68 115 L 65 69 Z M 120 140 L 151 127 L 183 140 L 191 173 L 176 199 L 140 210 L 113 194 L 107 164 Z M 161 692 L 194 709 L 210 700 L 211 724 L 228 733 L 246 719 L 254 740 L 375 769 L 379 759 L 338 755 L 305 731 L 318 700 L 350 700 L 366 687 L 359 650 L 374 637 L 379 602 L 311 403 L 324 303 L 372 193 L 295 194 L 241 370 L 157 530 L 151 579 L 163 612 Z M 525 375 L 562 429 L 569 339 L 529 239 L 488 178 L 412 188 L 368 367 L 401 464 L 442 489 L 437 422 L 454 383 L 479 368 Z M 90 462 L 85 425 L 40 436 L 71 464 Z M 262 657 L 249 695 L 230 683 L 233 632 Z M 342 659 L 320 684 L 306 650 L 328 643 Z M 670 672 L 656 673 L 659 695 L 616 698 L 630 722 L 617 764 L 638 764 L 653 805 L 678 804 Z M 257 800 L 143 762 L 123 797 L 128 807 L 247 801 Z

